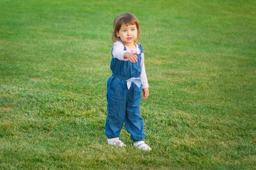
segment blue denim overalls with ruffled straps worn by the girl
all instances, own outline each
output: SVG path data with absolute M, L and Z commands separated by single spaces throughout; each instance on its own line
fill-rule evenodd
M 122 43 L 122 42 L 121 42 Z M 124 45 L 124 44 L 123 44 Z M 122 61 L 113 57 L 111 49 L 112 76 L 107 82 L 108 116 L 105 125 L 105 135 L 108 138 L 120 136 L 120 131 L 125 123 L 125 128 L 131 134 L 133 142 L 143 141 L 143 118 L 140 116 L 140 101 L 142 84 L 141 53 L 143 48 L 138 44 L 140 54 L 136 54 L 138 62 Z M 124 50 L 127 51 L 125 45 Z

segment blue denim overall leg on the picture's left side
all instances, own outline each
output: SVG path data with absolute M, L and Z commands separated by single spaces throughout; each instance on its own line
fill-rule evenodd
M 105 124 L 105 135 L 108 138 L 119 137 L 120 131 L 124 125 L 126 95 L 122 87 L 123 81 L 120 80 L 117 83 L 115 80 L 108 83 L 108 116 Z

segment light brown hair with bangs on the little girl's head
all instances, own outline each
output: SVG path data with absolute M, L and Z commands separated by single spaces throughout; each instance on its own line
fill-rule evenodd
M 140 41 L 140 23 L 139 20 L 131 13 L 122 13 L 115 17 L 113 30 L 112 30 L 112 41 L 116 42 L 121 41 L 120 37 L 117 37 L 116 32 L 120 30 L 122 24 L 128 25 L 136 25 L 137 27 L 137 39 L 135 42 Z

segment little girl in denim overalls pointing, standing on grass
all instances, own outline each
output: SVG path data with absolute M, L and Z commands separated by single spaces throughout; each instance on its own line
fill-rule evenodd
M 120 131 L 125 123 L 134 147 L 151 151 L 152 149 L 143 141 L 146 135 L 143 133 L 140 101 L 141 98 L 148 97 L 149 86 L 142 45 L 134 43 L 140 40 L 140 24 L 133 14 L 123 13 L 115 17 L 112 40 L 114 44 L 111 49 L 110 68 L 113 74 L 107 82 L 108 116 L 105 125 L 107 143 L 126 146 L 119 140 Z

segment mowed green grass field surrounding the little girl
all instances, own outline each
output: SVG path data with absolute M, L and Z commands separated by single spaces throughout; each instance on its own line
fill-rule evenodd
M 117 14 L 141 24 L 143 152 L 105 143 Z M 256 169 L 256 1 L 0 0 L 0 169 Z

